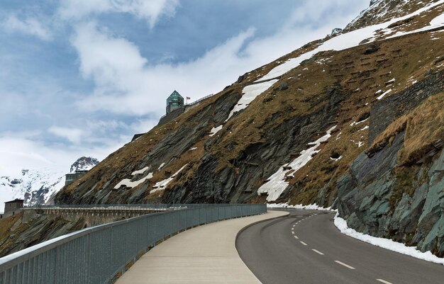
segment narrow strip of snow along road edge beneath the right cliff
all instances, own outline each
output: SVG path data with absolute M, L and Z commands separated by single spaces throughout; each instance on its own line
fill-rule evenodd
M 426 252 L 418 251 L 418 249 L 416 249 L 415 246 L 406 246 L 405 244 L 394 242 L 391 239 L 372 237 L 368 234 L 362 234 L 360 232 L 356 232 L 354 229 L 349 228 L 347 222 L 343 220 L 343 218 L 339 217 L 338 214 L 335 215 L 334 223 L 341 233 L 346 234 L 349 237 L 359 239 L 362 242 L 366 242 L 374 246 L 380 246 L 384 249 L 389 249 L 390 251 L 396 251 L 399 254 L 406 254 L 408 256 L 413 256 L 416 259 L 423 259 L 424 261 L 430 261 L 433 263 L 439 263 L 444 265 L 444 259 L 438 258 L 438 256 L 433 255 L 430 251 Z

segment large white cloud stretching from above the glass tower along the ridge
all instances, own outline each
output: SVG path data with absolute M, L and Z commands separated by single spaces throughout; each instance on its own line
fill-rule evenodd
M 334 3 L 343 1 L 346 0 L 334 0 Z M 117 38 L 94 23 L 79 25 L 72 44 L 79 55 L 83 76 L 94 79 L 96 87 L 77 105 L 91 112 L 161 115 L 165 98 L 174 89 L 193 100 L 221 91 L 240 74 L 292 52 L 306 42 L 323 38 L 332 28 L 344 26 L 353 18 L 353 15 L 344 17 L 340 9 L 333 11 L 332 5 L 320 8 L 306 1 L 297 9 L 303 12 L 296 11 L 274 35 L 258 38 L 255 28 L 250 28 L 198 59 L 178 64 L 149 64 L 149 58 L 140 55 L 133 42 Z M 327 9 L 330 9 L 330 18 L 320 21 L 319 27 L 301 25 L 310 11 L 319 10 L 313 16 L 319 19 Z

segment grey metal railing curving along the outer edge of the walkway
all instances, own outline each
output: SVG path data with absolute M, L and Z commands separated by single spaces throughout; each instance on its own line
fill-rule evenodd
M 173 234 L 267 212 L 265 204 L 158 206 L 181 210 L 83 229 L 5 256 L 0 259 L 0 284 L 113 283 L 128 263 Z

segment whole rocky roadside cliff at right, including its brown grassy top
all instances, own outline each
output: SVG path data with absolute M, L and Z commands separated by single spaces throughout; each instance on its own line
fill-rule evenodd
M 444 256 L 443 103 L 441 92 L 406 111 L 338 180 L 350 227 Z

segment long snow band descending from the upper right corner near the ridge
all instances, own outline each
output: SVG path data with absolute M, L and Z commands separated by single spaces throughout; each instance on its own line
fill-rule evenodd
M 327 50 L 336 50 L 336 51 L 345 50 L 345 49 L 359 45 L 360 42 L 362 42 L 362 40 L 370 40 L 370 42 L 371 42 L 372 40 L 374 40 L 375 32 L 377 30 L 388 29 L 389 25 L 391 25 L 392 23 L 396 23 L 397 21 L 405 20 L 406 18 L 410 18 L 412 16 L 417 16 L 420 13 L 423 13 L 424 11 L 428 11 L 431 8 L 434 8 L 435 6 L 439 6 L 440 4 L 444 4 L 444 0 L 439 0 L 433 4 L 430 4 L 428 6 L 418 9 L 417 11 L 414 11 L 413 13 L 410 13 L 409 15 L 406 15 L 406 16 L 403 16 L 400 18 L 393 18 L 392 20 L 387 21 L 385 23 L 380 23 L 377 25 L 370 25 L 365 28 L 360 28 L 359 30 L 353 30 L 350 33 L 343 33 L 341 35 L 338 35 L 334 38 L 331 38 L 330 40 L 327 40 L 326 42 L 323 42 L 321 45 L 319 45 L 318 47 L 316 47 L 314 50 L 312 50 L 310 52 L 306 52 L 303 55 L 300 55 L 299 57 L 288 59 L 283 64 L 280 64 L 277 67 L 274 67 L 268 74 L 266 74 L 262 78 L 257 79 L 257 81 L 273 79 L 273 78 L 276 78 L 277 76 L 281 76 L 281 75 L 289 72 L 290 70 L 298 67 L 299 64 L 301 64 L 301 62 L 303 62 L 305 59 L 311 58 L 313 55 L 315 55 L 318 52 L 327 51 Z M 431 21 L 431 25 L 429 25 L 423 29 L 414 30 L 411 32 L 406 32 L 406 33 L 396 33 L 395 35 L 392 35 L 389 38 L 396 38 L 398 36 L 406 35 L 409 33 L 418 33 L 423 30 L 430 30 L 432 28 L 438 28 L 438 27 L 444 25 L 443 23 L 440 23 L 443 21 L 441 16 L 438 16 L 437 18 L 433 19 Z

